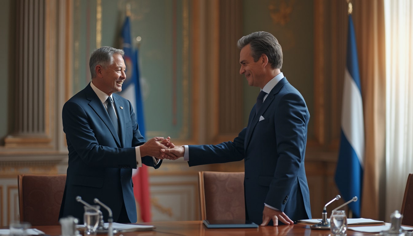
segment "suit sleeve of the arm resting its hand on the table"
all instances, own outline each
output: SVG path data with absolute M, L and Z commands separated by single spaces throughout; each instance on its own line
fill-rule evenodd
M 298 175 L 304 168 L 308 112 L 304 99 L 297 93 L 286 93 L 274 117 L 277 140 L 277 165 L 265 203 L 284 211 L 285 200 L 299 187 Z

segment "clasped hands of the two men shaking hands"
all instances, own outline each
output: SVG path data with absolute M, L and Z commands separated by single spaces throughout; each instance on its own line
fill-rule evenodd
M 139 147 L 140 155 L 152 156 L 158 159 L 176 160 L 183 157 L 184 146 L 175 146 L 171 143 L 171 137 L 154 137 Z

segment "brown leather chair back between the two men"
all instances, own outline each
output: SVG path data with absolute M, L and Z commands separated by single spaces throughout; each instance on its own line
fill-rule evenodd
M 202 220 L 245 220 L 244 172 L 198 172 Z

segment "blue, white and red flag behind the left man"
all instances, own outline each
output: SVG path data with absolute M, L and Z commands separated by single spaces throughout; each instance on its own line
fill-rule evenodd
M 145 119 L 143 116 L 142 93 L 140 90 L 140 74 L 138 49 L 134 50 L 131 43 L 131 24 L 126 17 L 122 28 L 124 60 L 126 64 L 126 80 L 122 85 L 121 96 L 128 99 L 135 111 L 139 131 L 145 137 Z M 150 192 L 147 166 L 133 169 L 133 194 L 135 195 L 138 221 L 151 222 Z

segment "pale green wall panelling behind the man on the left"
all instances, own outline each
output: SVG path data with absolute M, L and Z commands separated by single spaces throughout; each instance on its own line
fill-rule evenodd
M 184 132 L 183 128 L 190 127 L 191 111 L 183 112 L 183 101 L 185 96 L 190 97 L 191 91 L 183 95 L 183 8 L 189 10 L 190 2 L 183 6 L 183 1 L 179 0 L 102 0 L 102 46 L 122 48 L 121 28 L 126 17 L 126 3 L 131 6 L 132 40 L 138 36 L 142 38 L 139 57 L 147 138 L 188 139 L 190 132 Z M 74 29 L 74 41 L 79 45 L 74 51 L 74 60 L 79 64 L 77 69 L 74 67 L 73 91 L 76 93 L 90 81 L 88 58 L 96 48 L 96 1 L 80 1 L 75 6 Z M 186 33 L 189 36 L 190 32 Z M 190 51 L 187 53 L 190 55 Z M 186 62 L 189 65 L 189 57 Z M 190 75 L 189 66 L 187 73 Z M 186 79 L 190 88 L 191 78 Z M 185 114 L 187 116 L 183 117 Z

